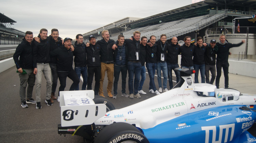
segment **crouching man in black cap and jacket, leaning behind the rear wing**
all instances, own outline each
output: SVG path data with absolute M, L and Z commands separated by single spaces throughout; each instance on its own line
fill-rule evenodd
M 73 83 L 70 86 L 69 91 L 75 90 L 79 84 L 79 78 L 77 77 L 72 65 L 73 65 L 73 52 L 71 51 L 72 39 L 67 37 L 64 39 L 64 46 L 60 46 L 51 52 L 52 57 L 56 57 L 57 72 L 60 82 L 59 92 L 64 91 L 66 87 L 66 80 L 69 77 Z

